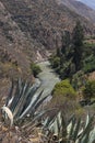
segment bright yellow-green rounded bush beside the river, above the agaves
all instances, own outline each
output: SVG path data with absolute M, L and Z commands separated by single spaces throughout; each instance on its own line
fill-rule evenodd
M 54 90 L 52 90 L 52 96 L 66 96 L 70 98 L 75 98 L 75 91 L 73 87 L 70 85 L 70 81 L 68 79 L 62 80 L 58 84 L 56 84 Z

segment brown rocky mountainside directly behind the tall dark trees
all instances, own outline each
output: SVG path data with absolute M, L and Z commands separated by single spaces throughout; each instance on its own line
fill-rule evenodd
M 75 21 L 82 21 L 86 33 L 93 33 L 94 25 L 56 0 L 1 0 L 26 37 L 34 38 L 46 48 L 61 44 L 63 30 L 72 31 Z

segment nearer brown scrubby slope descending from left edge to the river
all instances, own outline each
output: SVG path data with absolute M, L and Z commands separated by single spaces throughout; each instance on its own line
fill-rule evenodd
M 40 50 L 44 46 L 26 36 L 0 2 L 0 78 L 31 77 L 29 65 Z

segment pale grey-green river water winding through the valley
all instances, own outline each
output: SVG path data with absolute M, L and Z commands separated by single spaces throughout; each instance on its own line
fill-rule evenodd
M 37 65 L 41 69 L 41 73 L 38 75 L 38 78 L 41 82 L 39 90 L 44 89 L 43 96 L 50 95 L 55 85 L 60 81 L 60 78 L 55 73 L 55 70 L 51 69 L 50 63 L 48 61 L 47 62 L 40 62 Z

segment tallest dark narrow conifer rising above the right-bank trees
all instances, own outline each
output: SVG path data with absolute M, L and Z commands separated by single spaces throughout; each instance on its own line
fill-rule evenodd
M 72 44 L 73 44 L 73 62 L 75 64 L 75 69 L 79 70 L 81 68 L 81 59 L 82 59 L 82 52 L 83 52 L 83 40 L 84 40 L 84 33 L 83 28 L 80 23 L 80 21 L 76 22 L 75 28 L 73 29 L 72 34 Z

